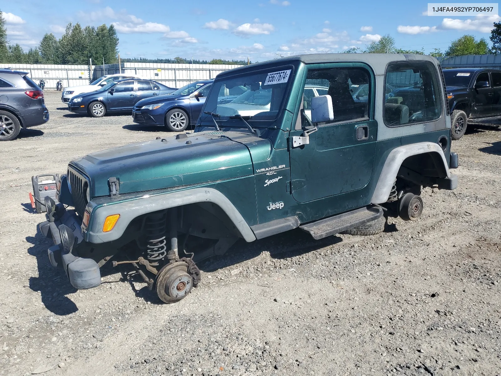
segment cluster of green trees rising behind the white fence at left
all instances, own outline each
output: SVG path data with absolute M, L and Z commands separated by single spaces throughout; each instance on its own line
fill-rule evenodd
M 118 36 L 113 25 L 86 26 L 79 23 L 66 26 L 57 39 L 54 34 L 44 35 L 40 44 L 27 52 L 7 40 L 6 21 L 0 11 L 0 63 L 12 64 L 106 64 L 117 62 Z

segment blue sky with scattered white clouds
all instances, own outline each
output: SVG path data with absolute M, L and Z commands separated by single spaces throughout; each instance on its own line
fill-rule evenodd
M 402 49 L 447 49 L 472 34 L 488 41 L 489 17 L 428 17 L 427 2 L 333 0 L 3 2 L 8 39 L 27 49 L 69 22 L 113 23 L 122 57 L 246 59 L 342 52 L 390 34 Z

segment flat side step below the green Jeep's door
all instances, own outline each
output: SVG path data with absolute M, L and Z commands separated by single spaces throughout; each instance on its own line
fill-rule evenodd
M 309 232 L 313 239 L 319 240 L 328 236 L 339 234 L 340 232 L 352 229 L 363 225 L 364 223 L 378 219 L 383 215 L 383 210 L 375 206 L 368 206 L 338 214 L 333 217 L 312 222 L 307 225 L 300 226 L 303 231 Z

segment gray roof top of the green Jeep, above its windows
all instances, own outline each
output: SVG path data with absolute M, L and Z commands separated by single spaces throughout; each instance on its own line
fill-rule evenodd
M 384 74 L 386 66 L 392 61 L 420 60 L 429 61 L 434 65 L 438 64 L 437 59 L 428 55 L 417 54 L 305 54 L 295 55 L 286 58 L 267 60 L 261 63 L 245 65 L 219 73 L 218 78 L 240 73 L 239 71 L 256 68 L 264 65 L 283 65 L 294 61 L 301 61 L 305 64 L 323 64 L 323 63 L 366 63 L 374 69 L 376 75 Z

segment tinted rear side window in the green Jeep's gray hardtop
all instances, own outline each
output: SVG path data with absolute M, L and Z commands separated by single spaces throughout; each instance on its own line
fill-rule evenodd
M 385 81 L 393 91 L 385 95 L 384 122 L 396 127 L 433 121 L 442 113 L 440 85 L 429 62 L 388 64 Z

